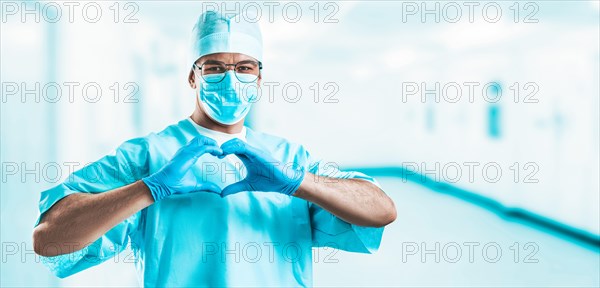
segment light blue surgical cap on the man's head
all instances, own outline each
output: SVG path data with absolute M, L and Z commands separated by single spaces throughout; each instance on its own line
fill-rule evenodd
M 213 53 L 242 53 L 262 61 L 262 35 L 256 17 L 207 11 L 192 30 L 191 63 Z

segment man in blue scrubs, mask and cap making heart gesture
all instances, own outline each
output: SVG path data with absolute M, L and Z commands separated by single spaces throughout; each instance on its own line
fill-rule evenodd
M 378 249 L 396 210 L 372 178 L 244 126 L 258 25 L 206 12 L 193 33 L 192 116 L 42 192 L 44 263 L 66 277 L 131 245 L 144 286 L 311 286 L 312 247 Z

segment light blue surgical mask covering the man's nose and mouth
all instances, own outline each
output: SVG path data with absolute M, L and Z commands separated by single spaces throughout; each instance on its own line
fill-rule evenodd
M 218 79 L 222 76 L 205 75 L 204 77 Z M 227 71 L 225 78 L 218 83 L 208 83 L 202 77 L 196 77 L 202 108 L 211 119 L 224 125 L 233 125 L 246 117 L 258 95 L 256 80 L 243 83 L 238 77 L 242 80 L 248 78 L 248 81 L 256 78 L 242 73 L 238 73 L 236 77 L 233 71 Z

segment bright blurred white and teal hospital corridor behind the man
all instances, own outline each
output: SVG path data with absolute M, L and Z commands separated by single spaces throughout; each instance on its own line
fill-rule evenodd
M 189 119 L 206 80 L 190 35 L 221 4 L 2 1 L 0 286 L 139 286 L 130 247 L 53 275 L 33 248 L 41 192 Z M 376 253 L 312 250 L 314 286 L 600 286 L 600 1 L 223 5 L 262 12 L 247 129 L 396 205 Z

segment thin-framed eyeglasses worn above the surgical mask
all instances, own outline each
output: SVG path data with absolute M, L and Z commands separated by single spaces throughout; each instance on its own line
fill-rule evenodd
M 200 70 L 200 76 L 207 83 L 218 83 L 225 79 L 228 66 L 233 66 L 235 77 L 243 83 L 256 81 L 260 76 L 262 63 L 254 60 L 244 60 L 235 64 L 226 64 L 221 61 L 207 60 L 198 66 L 194 63 L 194 69 Z

